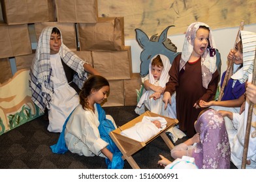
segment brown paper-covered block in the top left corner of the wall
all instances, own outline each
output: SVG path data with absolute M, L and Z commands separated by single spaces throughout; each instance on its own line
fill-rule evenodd
M 54 10 L 50 4 L 50 10 Z M 49 21 L 48 0 L 1 0 L 3 18 L 8 25 Z M 52 12 L 53 14 L 53 12 Z

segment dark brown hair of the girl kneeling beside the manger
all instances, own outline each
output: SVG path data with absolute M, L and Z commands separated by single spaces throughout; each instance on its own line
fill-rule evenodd
M 84 110 L 89 109 L 88 96 L 91 94 L 91 91 L 98 91 L 103 88 L 103 86 L 109 86 L 109 83 L 100 75 L 93 75 L 84 82 L 82 90 L 79 94 L 80 105 L 82 105 Z

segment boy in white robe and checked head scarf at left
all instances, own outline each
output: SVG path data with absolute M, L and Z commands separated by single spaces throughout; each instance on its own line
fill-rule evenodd
M 48 109 L 48 131 L 61 132 L 63 123 L 79 104 L 78 93 L 88 73 L 99 75 L 62 42 L 57 27 L 45 27 L 29 73 L 32 101 Z

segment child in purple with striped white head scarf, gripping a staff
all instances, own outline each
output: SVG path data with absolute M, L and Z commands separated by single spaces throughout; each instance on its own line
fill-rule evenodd
M 227 86 L 225 86 L 221 101 L 200 101 L 200 107 L 211 107 L 215 110 L 227 110 L 241 114 L 244 111 L 246 81 L 248 74 L 253 70 L 253 58 L 255 55 L 256 38 L 254 32 L 240 31 L 240 40 L 235 50 L 231 50 L 228 58 L 234 60 L 234 65 L 240 65 L 240 70 L 235 72 Z M 232 61 L 229 60 L 229 61 Z M 225 124 L 229 135 L 234 135 L 236 129 L 229 118 L 225 117 Z

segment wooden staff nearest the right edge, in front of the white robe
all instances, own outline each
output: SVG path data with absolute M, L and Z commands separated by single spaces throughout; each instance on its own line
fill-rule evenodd
M 253 79 L 251 81 L 253 85 L 256 85 L 256 52 L 255 52 L 255 58 L 253 63 Z M 247 118 L 247 124 L 246 124 L 246 136 L 244 138 L 244 151 L 243 151 L 243 158 L 242 158 L 242 169 L 246 168 L 246 161 L 247 161 L 247 153 L 248 153 L 248 146 L 249 146 L 249 135 L 251 131 L 251 118 L 253 114 L 253 103 L 249 101 L 249 110 L 248 110 L 248 118 Z

